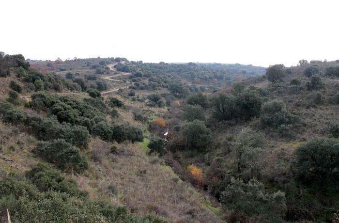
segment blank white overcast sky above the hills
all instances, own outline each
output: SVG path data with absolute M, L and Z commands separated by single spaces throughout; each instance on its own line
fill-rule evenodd
M 338 8 L 338 0 L 3 0 L 0 51 L 32 60 L 333 61 Z

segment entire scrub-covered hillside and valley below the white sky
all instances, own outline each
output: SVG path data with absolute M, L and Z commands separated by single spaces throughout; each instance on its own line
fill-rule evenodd
M 338 67 L 1 54 L 1 217 L 336 221 Z

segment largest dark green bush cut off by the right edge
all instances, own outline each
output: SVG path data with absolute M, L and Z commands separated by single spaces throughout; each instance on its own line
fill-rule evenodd
M 311 139 L 295 150 L 296 176 L 319 189 L 338 186 L 339 140 Z

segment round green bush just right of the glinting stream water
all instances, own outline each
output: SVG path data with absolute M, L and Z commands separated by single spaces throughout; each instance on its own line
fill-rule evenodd
M 189 148 L 204 149 L 212 142 L 212 133 L 200 120 L 185 124 L 182 133 Z

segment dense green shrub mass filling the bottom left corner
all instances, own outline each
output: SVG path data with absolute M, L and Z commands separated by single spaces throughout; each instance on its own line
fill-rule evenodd
M 27 179 L 29 177 L 32 181 Z M 48 191 L 38 191 L 35 184 Z M 15 222 L 29 223 L 34 219 L 34 223 L 66 220 L 79 223 L 168 223 L 154 215 L 130 214 L 127 208 L 113 206 L 105 199 L 91 200 L 76 188 L 75 183 L 65 180 L 60 173 L 41 167 L 34 167 L 26 177 L 11 174 L 0 180 L 1 198 L 13 197 L 9 211 Z

